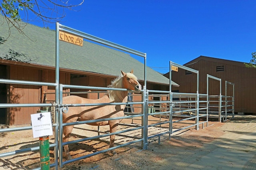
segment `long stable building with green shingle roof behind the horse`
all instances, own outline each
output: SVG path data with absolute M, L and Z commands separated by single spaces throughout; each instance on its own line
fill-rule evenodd
M 27 24 L 18 32 L 9 29 L 0 18 L 0 78 L 55 83 L 55 34 L 54 30 Z M 60 41 L 60 83 L 106 87 L 121 74 L 130 72 L 144 84 L 144 64 L 129 54 L 103 45 L 83 41 L 83 46 Z M 147 67 L 147 88 L 168 90 L 169 79 Z M 178 86 L 175 82 L 172 85 Z M 0 103 L 38 104 L 54 100 L 54 87 L 0 83 Z M 72 89 L 66 89 L 72 92 Z M 85 95 L 96 98 L 95 95 Z M 139 100 L 139 99 L 137 99 Z M 6 125 L 30 124 L 30 115 L 39 107 L 0 108 L 0 123 Z

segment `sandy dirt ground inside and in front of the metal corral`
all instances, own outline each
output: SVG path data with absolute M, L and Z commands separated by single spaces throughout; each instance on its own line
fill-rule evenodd
M 193 122 L 186 121 L 186 123 Z M 174 129 L 182 126 L 184 126 L 182 123 L 174 124 Z M 79 125 L 72 131 L 70 140 L 94 135 L 88 133 L 84 135 L 84 130 L 81 130 L 80 128 L 95 129 L 95 127 L 92 126 L 84 127 Z M 108 129 L 108 127 L 105 128 Z M 119 127 L 119 129 L 122 130 L 124 130 L 124 128 L 125 127 L 122 126 Z M 149 133 L 154 134 L 162 129 L 164 128 L 153 128 L 149 130 Z M 104 128 L 101 129 L 101 131 L 104 131 Z M 158 138 L 152 138 L 148 141 L 146 150 L 142 150 L 141 143 L 138 142 L 116 149 L 115 151 L 117 154 L 115 155 L 112 155 L 109 152 L 97 154 L 77 162 L 66 164 L 63 168 L 59 169 L 184 170 L 188 169 L 190 165 L 195 164 L 195 162 L 199 162 L 205 155 L 213 152 L 217 148 L 221 148 L 220 145 L 223 145 L 225 141 L 233 141 L 229 144 L 233 145 L 239 137 L 249 133 L 256 133 L 256 116 L 235 115 L 233 119 L 229 119 L 224 123 L 216 120 L 210 121 L 208 127 L 206 127 L 206 124 L 204 124 L 204 129 L 202 129 L 201 125 L 198 131 L 194 127 L 178 131 L 172 134 L 170 140 L 168 139 L 168 135 L 162 135 L 160 138 L 160 144 L 158 144 Z M 133 135 L 136 136 L 138 134 L 134 132 Z M 0 137 L 0 153 L 11 152 L 28 147 L 37 147 L 38 139 L 34 139 L 32 136 L 32 131 L 17 131 L 2 134 Z M 50 142 L 53 142 L 53 136 L 50 137 Z M 120 145 L 123 142 L 125 142 L 123 137 L 116 137 L 115 145 Z M 216 142 L 218 142 L 218 145 Z M 105 137 L 100 138 L 97 141 L 85 141 L 78 144 L 71 144 L 69 149 L 71 156 L 76 158 L 81 155 L 96 152 L 98 150 L 107 149 L 108 144 L 109 137 Z M 245 150 L 244 152 L 247 154 L 256 155 L 255 147 Z M 50 150 L 51 162 L 53 161 L 53 157 L 53 150 Z M 40 166 L 39 158 L 39 151 L 31 151 L 24 154 L 3 157 L 0 158 L 0 170 L 4 168 L 4 163 L 8 163 L 8 169 L 19 170 L 36 168 Z M 254 158 L 256 158 L 256 156 L 254 156 Z M 64 160 L 66 160 L 65 157 Z M 256 165 L 256 163 L 254 165 Z

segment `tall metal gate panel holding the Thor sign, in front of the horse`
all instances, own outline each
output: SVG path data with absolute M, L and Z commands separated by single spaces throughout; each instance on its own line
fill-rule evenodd
M 60 89 L 58 90 L 60 92 L 60 94 L 59 94 L 60 97 L 59 97 L 59 101 L 56 101 L 57 105 L 60 107 L 60 110 L 59 110 L 59 116 L 60 116 L 59 117 L 59 119 L 60 119 L 59 131 L 60 131 L 60 134 L 62 134 L 63 126 L 79 125 L 79 124 L 92 123 L 92 122 L 97 122 L 97 121 L 110 121 L 110 120 L 114 120 L 114 119 L 124 119 L 124 118 L 128 118 L 128 117 L 130 117 L 130 118 L 131 117 L 141 117 L 142 124 L 144 124 L 143 123 L 144 119 L 145 119 L 145 117 L 144 117 L 144 113 L 145 113 L 145 103 L 144 103 L 144 101 L 145 101 L 145 95 L 146 95 L 145 94 L 145 90 L 146 90 L 146 53 L 142 53 L 140 51 L 136 51 L 134 49 L 130 49 L 130 48 L 118 45 L 116 43 L 112 43 L 110 41 L 106 41 L 104 39 L 101 39 L 101 38 L 89 35 L 87 33 L 83 33 L 81 31 L 78 31 L 78 30 L 75 30 L 75 29 L 72 29 L 70 27 L 66 27 L 64 25 L 61 25 L 61 24 L 57 23 L 56 24 L 56 37 L 58 37 L 59 31 L 64 31 L 66 33 L 70 33 L 72 35 L 77 35 L 77 36 L 82 37 L 84 39 L 93 41 L 95 43 L 100 43 L 100 44 L 106 45 L 108 47 L 112 47 L 114 49 L 119 49 L 121 51 L 125 51 L 125 52 L 131 53 L 131 54 L 139 56 L 139 57 L 144 57 L 144 89 L 141 90 L 141 92 L 142 92 L 142 100 L 140 102 L 136 102 L 136 103 L 132 102 L 133 105 L 134 104 L 141 105 L 142 112 L 140 114 L 138 114 L 138 115 L 126 115 L 125 117 L 118 117 L 118 118 L 104 118 L 104 119 L 97 119 L 97 120 L 90 120 L 90 121 L 80 121 L 80 122 L 74 122 L 74 123 L 62 123 L 62 109 L 63 109 L 63 107 L 67 107 L 67 106 L 68 107 L 92 106 L 91 104 L 66 104 L 66 105 L 62 105 L 62 89 L 63 88 L 92 89 L 92 90 L 122 90 L 122 91 L 126 90 L 126 89 L 115 89 L 115 88 L 111 89 L 111 88 L 99 88 L 99 87 L 89 87 L 89 86 L 71 86 L 71 85 L 60 84 Z M 58 51 L 59 51 L 59 40 L 56 39 L 56 61 L 59 61 L 59 53 L 58 53 Z M 56 74 L 57 74 L 58 70 L 59 70 L 59 68 L 56 66 Z M 56 75 L 56 77 L 58 78 L 58 75 Z M 129 103 L 96 104 L 96 106 L 124 105 L 124 104 L 129 104 Z M 56 112 L 58 112 L 58 110 Z M 63 114 L 65 114 L 65 113 L 63 113 Z M 132 126 L 130 126 L 130 127 L 132 127 Z M 130 138 L 134 138 L 134 141 L 130 141 L 128 143 L 124 143 L 124 144 L 112 147 L 110 149 L 100 150 L 100 151 L 94 152 L 92 154 L 80 156 L 78 158 L 73 158 L 71 160 L 63 161 L 63 159 L 62 159 L 62 146 L 64 146 L 64 145 L 68 145 L 68 144 L 71 144 L 71 143 L 78 143 L 78 142 L 86 141 L 86 140 L 98 139 L 100 137 L 106 137 L 106 136 L 110 136 L 110 135 L 122 135 L 122 133 L 124 133 L 124 132 L 134 131 L 134 130 L 137 130 L 137 129 L 141 129 L 142 134 L 140 135 L 140 137 L 135 137 L 135 138 L 130 136 Z M 84 158 L 87 158 L 87 157 L 90 157 L 90 156 L 93 156 L 93 155 L 96 155 L 96 154 L 107 152 L 109 150 L 113 150 L 113 149 L 116 149 L 118 147 L 123 147 L 123 146 L 126 146 L 126 145 L 130 145 L 130 144 L 135 143 L 135 142 L 142 142 L 142 147 L 145 148 L 144 147 L 144 145 L 145 145 L 144 143 L 145 143 L 145 134 L 146 133 L 144 131 L 145 131 L 145 126 L 139 126 L 139 127 L 134 126 L 134 127 L 130 128 L 128 130 L 117 131 L 114 134 L 113 133 L 104 133 L 103 135 L 98 135 L 98 136 L 94 136 L 94 137 L 88 137 L 88 138 L 84 138 L 84 139 L 80 139 L 80 140 L 76 140 L 76 141 L 70 141 L 70 142 L 66 142 L 66 143 L 62 143 L 62 138 L 60 137 L 60 159 L 59 159 L 59 165 L 60 165 L 60 167 L 62 167 L 63 165 L 68 164 L 70 162 L 74 162 L 74 161 L 77 161 L 77 160 L 80 160 L 80 159 L 84 159 Z

